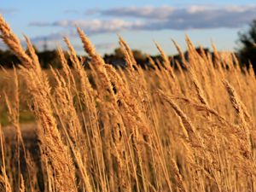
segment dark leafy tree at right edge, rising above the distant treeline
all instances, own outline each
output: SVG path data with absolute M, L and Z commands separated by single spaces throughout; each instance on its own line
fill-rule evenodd
M 253 20 L 246 32 L 238 33 L 238 55 L 241 64 L 249 66 L 249 62 L 253 64 L 254 72 L 256 72 L 256 20 Z

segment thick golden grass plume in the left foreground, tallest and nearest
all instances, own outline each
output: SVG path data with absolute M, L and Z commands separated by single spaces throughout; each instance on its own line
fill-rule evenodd
M 56 189 L 59 191 L 76 191 L 74 187 L 73 160 L 71 159 L 67 146 L 62 142 L 60 132 L 57 129 L 49 100 L 49 84 L 44 74 L 39 73 L 38 66 L 35 65 L 36 61 L 33 61 L 35 59 L 35 55 L 33 55 L 34 51 L 28 42 L 28 48 L 32 57 L 26 55 L 20 45 L 19 39 L 11 32 L 1 15 L 0 31 L 3 34 L 4 43 L 14 51 L 24 66 L 21 74 L 26 80 L 27 89 L 32 94 L 34 113 L 44 130 L 41 131 L 38 137 L 42 141 L 44 153 L 48 154 L 49 163 L 54 169 Z

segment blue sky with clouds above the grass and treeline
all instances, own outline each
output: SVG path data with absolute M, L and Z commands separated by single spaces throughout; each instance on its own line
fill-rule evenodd
M 67 37 L 79 54 L 82 44 L 76 32 L 79 26 L 100 54 L 119 46 L 121 35 L 131 49 L 158 54 L 154 41 L 168 55 L 177 51 L 172 40 L 186 49 L 185 35 L 195 46 L 218 49 L 238 48 L 237 32 L 246 32 L 256 19 L 254 0 L 2 0 L 0 14 L 24 41 L 25 34 L 38 49 L 55 49 Z M 46 42 L 46 43 L 45 43 Z M 0 43 L 0 48 L 3 43 Z

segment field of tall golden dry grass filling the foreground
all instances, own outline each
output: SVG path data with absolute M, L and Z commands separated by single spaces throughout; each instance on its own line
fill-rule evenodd
M 79 28 L 90 68 L 67 38 L 62 69 L 43 71 L 0 16 L 20 67 L 1 72 L 1 191 L 254 191 L 256 79 L 236 56 L 199 54 L 142 69 L 106 64 Z M 1 126 L 0 126 L 1 127 Z

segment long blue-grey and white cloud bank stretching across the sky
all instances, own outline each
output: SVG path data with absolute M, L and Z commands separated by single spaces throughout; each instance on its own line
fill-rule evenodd
M 224 7 L 193 5 L 186 8 L 172 6 L 119 7 L 88 9 L 84 15 L 90 15 L 97 19 L 32 21 L 29 26 L 55 27 L 59 30 L 44 37 L 33 38 L 32 41 L 42 42 L 44 39 L 57 41 L 63 37 L 63 34 L 70 38 L 78 37 L 75 26 L 81 27 L 88 35 L 137 30 L 186 31 L 191 29 L 240 28 L 256 18 L 256 5 Z

